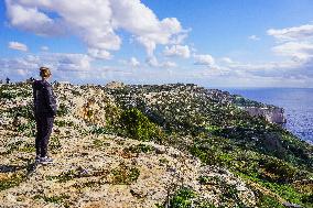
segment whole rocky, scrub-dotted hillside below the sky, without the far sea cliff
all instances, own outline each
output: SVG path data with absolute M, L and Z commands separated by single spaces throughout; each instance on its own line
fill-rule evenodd
M 55 164 L 33 171 L 31 85 L 0 86 L 0 207 L 310 207 L 312 146 L 227 92 L 118 83 L 54 91 Z

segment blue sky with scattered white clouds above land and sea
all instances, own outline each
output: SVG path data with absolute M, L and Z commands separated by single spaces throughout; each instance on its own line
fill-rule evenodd
M 75 2 L 75 3 L 73 3 Z M 312 0 L 1 0 L 0 79 L 313 87 Z

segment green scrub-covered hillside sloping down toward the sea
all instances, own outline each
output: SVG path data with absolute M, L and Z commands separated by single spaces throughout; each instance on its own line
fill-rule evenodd
M 166 132 L 163 142 L 187 150 L 206 164 L 223 166 L 249 178 L 285 201 L 307 206 L 305 201 L 310 201 L 313 190 L 303 193 L 293 183 L 312 178 L 312 145 L 280 125 L 238 108 L 266 105 L 219 90 L 209 95 L 204 88 L 181 84 L 127 86 L 109 92 L 122 109 L 132 109 L 131 113 L 129 110 L 123 113 L 128 118 L 123 120 L 128 123 L 125 130 L 129 129 L 130 138 L 149 138 L 138 132 L 148 129 L 141 128 L 144 127 L 141 123 L 153 122 Z M 152 94 L 147 99 L 147 95 Z M 129 119 L 138 117 L 147 119 Z M 190 142 L 182 142 L 181 138 L 188 138 Z M 217 183 L 211 178 L 199 179 L 204 184 Z M 234 187 L 225 187 L 225 195 L 234 201 L 238 199 Z M 260 205 L 280 207 L 272 196 L 258 196 Z M 240 201 L 236 206 L 240 207 Z

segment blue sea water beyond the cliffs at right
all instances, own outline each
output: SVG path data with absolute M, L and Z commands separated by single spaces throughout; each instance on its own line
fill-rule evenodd
M 284 128 L 313 144 L 313 88 L 224 88 L 230 94 L 284 109 Z

